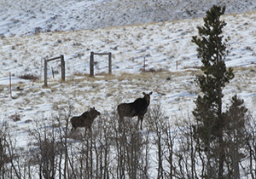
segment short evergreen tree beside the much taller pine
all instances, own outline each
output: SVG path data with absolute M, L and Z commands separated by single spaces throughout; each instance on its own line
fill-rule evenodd
M 231 105 L 226 113 L 225 118 L 225 150 L 227 151 L 226 161 L 229 168 L 229 177 L 233 179 L 240 178 L 239 163 L 241 159 L 245 158 L 245 153 L 241 153 L 241 148 L 246 151 L 246 127 L 247 120 L 247 107 L 243 105 L 244 101 L 237 98 L 235 95 L 232 97 Z

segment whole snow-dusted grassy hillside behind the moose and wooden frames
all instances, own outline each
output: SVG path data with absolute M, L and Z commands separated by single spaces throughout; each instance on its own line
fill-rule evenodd
M 226 5 L 221 17 L 227 23 L 224 37 L 230 37 L 226 65 L 235 72 L 224 89 L 224 107 L 238 95 L 256 118 L 256 0 L 2 0 L 0 125 L 7 122 L 16 146 L 26 148 L 27 130 L 36 129 L 38 119 L 52 118 L 56 108 L 72 103 L 72 115 L 89 107 L 108 114 L 143 91 L 153 91 L 149 107 L 160 104 L 171 124 L 191 115 L 201 66 L 191 39 L 212 4 Z M 96 55 L 96 76 L 89 77 L 91 51 L 112 53 L 112 75 L 106 74 L 108 57 Z M 60 61 L 50 61 L 44 87 L 44 59 L 59 55 L 66 81 Z M 144 60 L 151 72 L 142 72 Z M 25 74 L 38 80 L 19 78 Z

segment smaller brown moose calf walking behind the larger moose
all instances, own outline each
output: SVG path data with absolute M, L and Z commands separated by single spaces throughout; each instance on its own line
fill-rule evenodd
M 98 115 L 101 115 L 101 113 L 98 112 L 95 107 L 90 107 L 90 111 L 84 112 L 81 116 L 74 116 L 73 118 L 70 118 L 70 122 L 72 124 L 71 131 L 73 132 L 78 127 L 85 127 L 85 132 L 87 129 L 91 131 L 91 124 Z

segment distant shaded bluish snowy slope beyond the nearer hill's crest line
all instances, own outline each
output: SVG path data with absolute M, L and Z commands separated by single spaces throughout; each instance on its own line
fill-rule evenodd
M 256 10 L 256 0 L 2 0 L 0 34 L 9 37 L 191 19 L 205 16 L 212 4 L 226 5 L 226 14 Z

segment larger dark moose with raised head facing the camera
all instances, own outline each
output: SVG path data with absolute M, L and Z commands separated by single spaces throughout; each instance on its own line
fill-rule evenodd
M 139 121 L 141 121 L 141 130 L 143 130 L 143 117 L 147 113 L 148 105 L 150 104 L 150 95 L 152 92 L 146 94 L 143 92 L 143 98 L 137 98 L 137 100 L 131 103 L 121 103 L 118 106 L 119 113 L 119 126 L 124 122 L 124 117 L 135 117 L 137 116 L 137 127 Z

